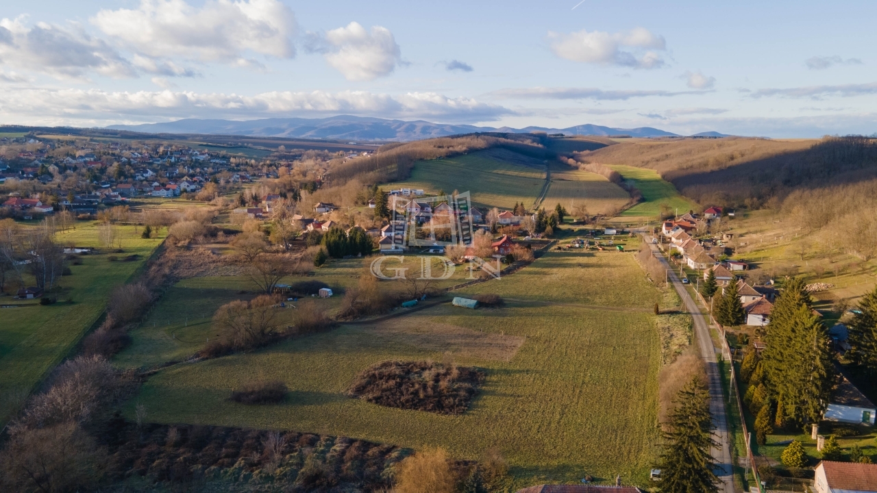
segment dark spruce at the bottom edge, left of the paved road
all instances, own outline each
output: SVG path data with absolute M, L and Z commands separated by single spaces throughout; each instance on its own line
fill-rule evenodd
M 717 444 L 712 439 L 709 391 L 697 377 L 676 395 L 667 431 L 662 434 L 666 443 L 657 466 L 661 471 L 660 491 L 716 493 L 716 461 L 709 448 Z

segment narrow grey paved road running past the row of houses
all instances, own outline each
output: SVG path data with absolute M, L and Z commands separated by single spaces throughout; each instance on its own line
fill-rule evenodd
M 645 236 L 647 241 L 651 241 L 649 236 Z M 695 301 L 688 296 L 688 291 L 682 284 L 679 276 L 676 275 L 673 268 L 667 264 L 664 256 L 660 254 L 657 245 L 652 245 L 652 253 L 667 268 L 670 281 L 673 282 L 676 292 L 682 299 L 682 306 L 691 313 L 691 318 L 695 321 L 695 331 L 697 331 L 697 342 L 701 349 L 701 357 L 706 364 L 707 378 L 709 379 L 709 411 L 712 412 L 716 421 L 716 441 L 718 447 L 713 448 L 712 455 L 720 470 L 716 471 L 716 475 L 722 481 L 719 485 L 720 490 L 725 493 L 734 493 L 734 481 L 731 475 L 731 433 L 728 432 L 728 418 L 725 416 L 724 395 L 722 393 L 722 379 L 718 373 L 718 361 L 716 359 L 716 348 L 713 346 L 712 338 L 709 337 L 709 325 L 706 318 L 703 317 L 700 309 Z

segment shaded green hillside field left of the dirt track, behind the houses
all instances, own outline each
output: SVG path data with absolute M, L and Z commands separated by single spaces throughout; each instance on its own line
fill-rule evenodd
M 417 161 L 411 176 L 388 187 L 472 192 L 475 205 L 511 209 L 516 203 L 531 207 L 545 187 L 542 161 L 505 149 L 488 149 L 453 158 Z

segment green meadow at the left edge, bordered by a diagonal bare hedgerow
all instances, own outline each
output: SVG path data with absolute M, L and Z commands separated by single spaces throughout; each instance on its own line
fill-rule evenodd
M 109 261 L 109 254 L 82 256 L 82 265 L 71 265 L 73 274 L 61 278 L 61 292 L 50 295 L 58 297 L 57 304 L 0 298 L 0 304 L 18 306 L 0 309 L 0 423 L 16 411 L 16 399 L 11 396 L 30 392 L 67 356 L 100 318 L 111 290 L 125 283 L 162 241 L 140 239 L 133 226 L 118 227 L 125 250 L 118 257 L 139 254 L 137 261 Z M 75 230 L 58 233 L 56 241 L 98 247 L 97 225 L 77 222 Z

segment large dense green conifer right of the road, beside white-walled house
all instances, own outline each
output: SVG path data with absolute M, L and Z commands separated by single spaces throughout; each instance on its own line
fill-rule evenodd
M 777 425 L 816 423 L 831 398 L 830 339 L 804 286 L 801 279 L 786 282 L 765 335 L 765 380 L 777 400 Z

